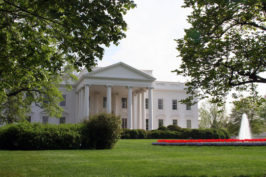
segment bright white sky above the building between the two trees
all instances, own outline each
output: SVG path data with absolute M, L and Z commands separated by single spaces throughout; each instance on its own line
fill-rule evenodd
M 181 64 L 174 39 L 183 38 L 184 29 L 191 25 L 187 16 L 192 12 L 182 8 L 183 0 L 134 0 L 137 7 L 124 16 L 128 24 L 126 38 L 118 46 L 105 48 L 98 66 L 124 62 L 136 69 L 153 70 L 157 81 L 185 82 L 189 78 L 172 73 Z M 266 75 L 266 74 L 265 74 Z M 266 95 L 265 84 L 259 86 L 259 94 Z M 228 103 L 232 101 L 229 98 Z M 231 106 L 227 106 L 230 107 Z

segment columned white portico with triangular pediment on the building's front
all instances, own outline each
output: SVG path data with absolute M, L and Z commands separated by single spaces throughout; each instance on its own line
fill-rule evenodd
M 106 111 L 121 115 L 129 129 L 146 129 L 147 93 L 148 129 L 153 129 L 152 90 L 153 82 L 156 80 L 154 77 L 119 62 L 107 67 L 96 67 L 90 73 L 84 69 L 79 73 L 78 79 L 74 85 L 76 122 L 90 114 Z

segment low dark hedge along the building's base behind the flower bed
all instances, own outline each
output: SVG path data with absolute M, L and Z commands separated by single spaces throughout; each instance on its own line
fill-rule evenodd
M 161 129 L 161 128 L 160 128 Z M 144 136 L 142 136 L 144 135 Z M 145 138 L 143 138 L 145 137 Z M 123 129 L 121 139 L 230 139 L 231 136 L 225 129 L 189 129 L 181 128 L 180 131 L 159 130 L 130 130 Z

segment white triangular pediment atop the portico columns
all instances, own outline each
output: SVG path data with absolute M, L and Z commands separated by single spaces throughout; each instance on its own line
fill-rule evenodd
M 155 81 L 156 79 L 138 69 L 133 68 L 123 62 L 100 68 L 85 74 L 89 78 L 110 78 L 126 80 Z

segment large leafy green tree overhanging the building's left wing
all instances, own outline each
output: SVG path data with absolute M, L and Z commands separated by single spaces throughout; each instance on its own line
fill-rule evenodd
M 123 14 L 134 6 L 132 0 L 0 0 L 0 119 L 25 116 L 32 103 L 60 117 L 59 85 L 70 89 L 73 69 L 90 71 L 103 46 L 126 37 Z

